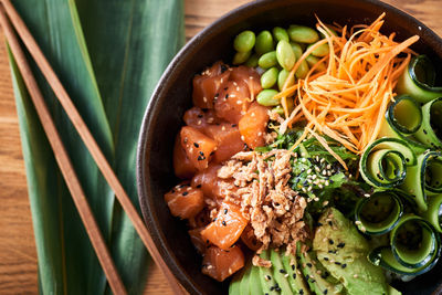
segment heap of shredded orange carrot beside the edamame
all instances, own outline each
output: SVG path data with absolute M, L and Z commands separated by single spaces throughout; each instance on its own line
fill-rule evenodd
M 356 154 L 361 154 L 377 138 L 388 104 L 394 99 L 393 88 L 411 55 L 415 54 L 409 46 L 419 40 L 413 35 L 396 42 L 394 33 L 381 34 L 383 17 L 385 13 L 369 25 L 358 24 L 351 29 L 325 25 L 318 19 L 317 30 L 324 39 L 296 61 L 282 91 L 275 96 L 282 99 L 286 115 L 280 133 L 297 120 L 307 122 L 304 134 L 292 150 L 311 135 L 346 167 L 320 134 Z M 329 28 L 339 35 L 333 34 Z M 322 44 L 329 48 L 329 54 L 319 61 L 326 65 L 326 71 L 317 73 L 317 66 L 313 66 L 305 78 L 288 86 L 301 63 Z M 403 55 L 399 56 L 401 53 Z M 292 96 L 296 107 L 288 114 L 285 99 Z

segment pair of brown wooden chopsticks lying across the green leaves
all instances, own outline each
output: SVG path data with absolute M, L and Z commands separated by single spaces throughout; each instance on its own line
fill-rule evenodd
M 24 83 L 28 87 L 28 91 L 31 95 L 32 102 L 35 106 L 39 118 L 43 125 L 43 129 L 48 136 L 52 150 L 55 155 L 55 159 L 59 164 L 60 170 L 62 171 L 63 178 L 67 185 L 67 188 L 72 194 L 75 207 L 78 210 L 80 217 L 83 221 L 84 226 L 86 228 L 86 232 L 91 239 L 92 245 L 95 250 L 96 255 L 98 256 L 98 261 L 103 267 L 103 271 L 107 277 L 107 281 L 110 285 L 110 288 L 114 294 L 127 294 L 126 288 L 122 282 L 122 278 L 118 275 L 118 272 L 115 267 L 115 264 L 112 260 L 109 251 L 106 246 L 105 240 L 99 231 L 99 228 L 96 223 L 96 220 L 93 215 L 90 204 L 85 198 L 84 191 L 81 187 L 78 178 L 76 177 L 75 170 L 72 166 L 72 162 L 69 158 L 66 149 L 63 146 L 63 143 L 60 138 L 60 135 L 56 130 L 55 124 L 52 120 L 50 112 L 48 110 L 48 106 L 43 99 L 43 96 L 39 89 L 39 86 L 35 82 L 35 78 L 32 74 L 32 71 L 29 66 L 27 57 L 19 44 L 18 36 L 15 32 L 19 34 L 21 41 L 24 43 L 29 53 L 35 61 L 40 71 L 43 73 L 48 83 L 52 87 L 55 93 L 59 102 L 63 106 L 69 118 L 73 123 L 75 129 L 78 131 L 80 137 L 86 145 L 88 151 L 94 158 L 96 165 L 102 171 L 104 178 L 114 190 L 116 198 L 122 204 L 124 211 L 129 217 L 131 223 L 134 224 L 135 230 L 138 232 L 143 243 L 149 251 L 154 261 L 157 265 L 162 270 L 167 280 L 170 283 L 173 292 L 176 294 L 183 294 L 180 285 L 176 281 L 171 271 L 167 267 L 165 261 L 161 259 L 160 253 L 156 249 L 154 241 L 147 231 L 145 223 L 141 218 L 138 215 L 134 204 L 130 202 L 126 191 L 123 186 L 119 183 L 115 172 L 112 167 L 107 162 L 105 156 L 99 149 L 97 143 L 88 130 L 86 124 L 84 123 L 82 116 L 78 110 L 75 108 L 72 99 L 69 94 L 64 89 L 61 84 L 59 77 L 55 72 L 52 70 L 50 63 L 43 55 L 32 34 L 28 30 L 23 20 L 20 18 L 19 13 L 15 11 L 14 7 L 10 2 L 10 0 L 0 0 L 0 23 L 3 28 L 6 38 L 8 40 L 9 46 L 12 51 L 12 54 L 17 61 L 19 70 L 23 76 Z M 9 19 L 8 19 L 9 18 Z M 13 25 L 13 28 L 12 28 Z M 14 30 L 15 29 L 15 30 Z

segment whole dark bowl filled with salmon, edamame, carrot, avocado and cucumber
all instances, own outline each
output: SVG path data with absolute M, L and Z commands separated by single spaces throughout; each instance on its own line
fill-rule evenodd
M 312 41 L 302 40 L 303 30 L 315 31 Z M 376 34 L 376 38 L 368 34 Z M 269 35 L 273 41 L 265 50 Z M 357 42 L 365 44 L 355 45 Z M 349 48 L 349 43 L 355 48 Z M 287 44 L 288 57 L 284 54 Z M 301 45 L 298 54 L 296 44 Z M 328 46 L 326 53 L 318 52 L 320 46 Z M 376 53 L 370 52 L 371 60 L 365 61 L 364 66 L 356 70 L 352 65 L 344 66 L 343 52 L 359 49 L 369 52 L 369 46 Z M 330 51 L 335 51 L 334 55 Z M 267 59 L 262 59 L 264 55 Z M 335 61 L 334 65 L 329 65 L 330 60 Z M 367 268 L 375 267 L 376 272 L 386 274 L 382 280 L 394 292 L 442 292 L 442 263 L 439 262 L 442 211 L 438 211 L 442 208 L 442 198 L 438 198 L 442 188 L 436 180 L 442 176 L 439 175 L 442 158 L 439 154 L 440 124 L 434 119 L 439 109 L 442 110 L 439 103 L 442 103 L 442 98 L 439 99 L 442 89 L 434 86 L 442 85 L 441 61 L 442 40 L 434 32 L 411 15 L 373 0 L 254 1 L 229 12 L 191 39 L 169 64 L 150 98 L 137 154 L 137 185 L 144 219 L 158 251 L 182 286 L 190 294 L 254 294 L 252 285 L 267 286 L 269 291 L 259 288 L 262 294 L 297 294 L 304 291 L 299 292 L 298 282 L 288 277 L 298 274 L 304 280 L 304 294 L 334 294 L 328 287 L 324 288 L 324 284 L 334 285 L 336 294 L 357 294 L 358 287 L 351 289 L 351 282 L 365 275 L 364 271 L 355 273 L 351 267 L 364 260 L 364 264 L 370 265 Z M 299 73 L 303 64 L 307 69 L 304 74 Z M 385 64 L 390 66 L 389 71 Z M 425 74 L 429 67 L 431 73 Z M 352 77 L 351 71 L 357 72 Z M 204 82 L 214 76 L 215 82 Z M 333 83 L 326 81 L 327 85 L 340 87 L 341 80 L 351 85 L 345 89 L 328 88 L 325 94 L 326 76 L 335 78 Z M 378 77 L 385 84 L 372 83 Z M 323 84 L 303 82 L 301 85 L 299 81 Z M 246 93 L 243 97 L 241 85 Z M 318 89 L 317 85 L 323 88 Z M 355 101 L 369 93 L 365 86 L 373 85 L 378 91 L 373 91 L 364 106 L 352 105 L 349 114 L 339 113 L 344 112 L 341 108 L 351 108 L 340 104 L 343 93 L 352 91 L 354 96 L 345 97 Z M 334 95 L 336 93 L 339 95 Z M 377 93 L 382 93 L 379 102 L 373 98 Z M 329 105 L 322 104 L 320 99 Z M 336 112 L 332 114 L 333 109 Z M 303 124 L 298 125 L 297 119 Z M 343 122 L 351 128 L 344 129 Z M 369 128 L 365 129 L 365 125 Z M 348 156 L 350 154 L 352 156 Z M 287 169 L 277 170 L 277 164 L 284 158 L 288 172 Z M 371 165 L 373 161 L 376 164 Z M 208 170 L 215 165 L 214 176 L 208 177 Z M 250 178 L 243 180 L 241 177 L 248 176 L 241 176 L 240 171 L 246 169 Z M 269 171 L 273 176 L 265 180 L 262 177 Z M 276 175 L 280 172 L 288 176 L 278 182 Z M 220 177 L 227 186 L 223 189 L 218 188 Z M 273 182 L 269 180 L 272 177 Z M 415 185 L 418 178 L 420 185 Z M 264 180 L 270 181 L 264 194 L 273 193 L 273 188 L 282 183 L 287 188 L 274 193 L 285 193 L 290 201 L 287 209 L 277 213 L 280 203 L 272 199 L 264 204 L 269 197 L 263 197 L 262 206 L 274 210 L 272 217 L 276 217 L 260 228 L 262 224 L 257 225 L 256 221 L 260 217 L 252 212 L 256 201 L 251 204 L 249 200 L 244 204 L 245 197 L 238 200 L 238 196 L 262 194 L 255 189 Z M 333 196 L 322 194 L 327 187 L 335 189 L 334 182 L 337 190 L 351 187 L 348 191 L 356 199 L 338 201 L 335 197 L 340 191 L 337 190 Z M 417 186 L 422 189 L 419 193 Z M 209 196 L 217 194 L 213 187 L 220 190 L 222 198 Z M 182 202 L 192 202 L 189 200 L 196 200 L 197 204 L 178 208 Z M 337 209 L 335 202 L 340 202 Z M 388 212 L 383 215 L 376 211 L 379 202 L 387 202 Z M 298 211 L 298 211 L 302 208 L 302 213 L 309 211 L 296 217 Z M 204 217 L 203 210 L 208 211 Z M 229 220 L 236 215 L 225 219 L 222 214 L 233 214 L 230 213 L 233 211 L 245 217 L 239 217 L 236 223 L 233 222 L 235 228 L 230 230 Z M 295 219 L 292 223 L 286 222 L 288 213 L 292 221 Z M 269 212 L 265 218 L 270 219 Z M 281 229 L 272 229 L 274 224 L 288 226 L 288 234 L 277 238 L 275 232 Z M 222 226 L 233 234 L 224 234 Z M 419 230 L 413 232 L 413 226 Z M 203 236 L 201 246 L 189 235 L 189 230 L 198 230 L 198 236 Z M 245 231 L 252 232 L 253 245 L 248 245 Z M 262 234 L 257 233 L 260 231 Z M 408 240 L 412 240 L 415 232 L 421 240 L 413 246 L 423 249 L 424 244 L 428 249 L 410 250 Z M 329 239 L 335 235 L 336 239 Z M 355 239 L 348 239 L 350 235 Z M 277 239 L 281 241 L 276 242 Z M 364 255 L 358 254 L 347 262 L 348 257 L 339 253 L 351 256 L 352 252 L 346 252 L 351 244 L 354 253 Z M 367 246 L 359 247 L 360 244 Z M 229 253 L 236 251 L 241 252 L 242 261 L 232 259 L 229 263 L 235 266 L 228 267 L 227 274 L 211 272 L 217 263 L 229 261 L 228 255 L 233 255 Z M 260 254 L 255 254 L 256 251 Z M 294 257 L 286 262 L 288 266 L 284 264 L 285 252 L 292 252 Z M 210 261 L 211 256 L 214 261 Z M 221 259 L 217 262 L 217 257 Z M 265 265 L 267 262 L 270 265 Z M 312 264 L 314 274 L 307 270 Z M 296 273 L 297 270 L 301 273 Z M 260 280 L 252 280 L 254 272 Z M 322 277 L 324 273 L 335 281 L 330 283 L 329 278 Z M 241 285 L 245 276 L 249 283 L 244 291 Z M 328 281 L 318 286 L 317 281 L 323 278 Z M 294 286 L 297 291 L 293 291 Z

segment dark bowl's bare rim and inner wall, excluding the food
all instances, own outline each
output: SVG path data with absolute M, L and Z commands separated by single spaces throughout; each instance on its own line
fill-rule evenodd
M 187 234 L 185 222 L 171 217 L 164 193 L 177 183 L 172 168 L 173 139 L 182 115 L 191 107 L 194 74 L 218 60 L 232 60 L 232 40 L 244 29 L 259 31 L 291 23 L 315 25 L 315 13 L 326 23 L 370 23 L 387 12 L 382 32 L 398 40 L 421 36 L 413 50 L 433 61 L 442 60 L 442 40 L 404 12 L 376 0 L 262 0 L 225 14 L 196 35 L 173 59 L 150 99 L 139 135 L 138 193 L 152 239 L 179 282 L 191 294 L 227 294 L 228 282 L 218 283 L 201 273 L 201 256 Z M 441 63 L 440 63 L 441 64 Z M 440 69 L 439 69 L 440 70 Z M 407 284 L 403 294 L 431 294 L 442 283 L 442 263 Z

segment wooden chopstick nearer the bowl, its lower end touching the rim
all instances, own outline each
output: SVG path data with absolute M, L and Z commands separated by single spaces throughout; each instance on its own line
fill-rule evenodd
M 80 137 L 82 138 L 82 140 L 86 145 L 87 149 L 90 150 L 92 157 L 94 158 L 96 165 L 98 166 L 99 170 L 102 171 L 104 178 L 106 179 L 106 181 L 108 182 L 110 188 L 114 190 L 116 198 L 118 199 L 124 211 L 126 212 L 126 214 L 133 222 L 135 230 L 138 232 L 143 243 L 149 251 L 155 263 L 162 270 L 164 274 L 166 275 L 166 278 L 169 281 L 169 284 L 170 284 L 172 291 L 176 294 L 183 294 L 181 286 L 178 284 L 172 272 L 169 270 L 166 262 L 162 260 L 161 254 L 155 246 L 154 240 L 151 239 L 149 232 L 147 231 L 141 218 L 138 215 L 138 212 L 135 209 L 134 204 L 131 203 L 129 197 L 127 196 L 123 186 L 118 181 L 118 178 L 116 177 L 115 172 L 113 171 L 110 165 L 107 162 L 105 156 L 103 155 L 97 143 L 95 141 L 94 137 L 92 136 L 91 131 L 88 130 L 88 128 L 87 128 L 86 124 L 84 123 L 83 118 L 81 117 L 78 110 L 76 109 L 75 105 L 72 103 L 67 92 L 64 89 L 62 83 L 60 82 L 55 72 L 52 70 L 50 63 L 45 59 L 43 52 L 40 50 L 39 45 L 36 44 L 32 34 L 28 30 L 23 20 L 20 18 L 19 13 L 17 12 L 17 10 L 14 9 L 14 7 L 12 6 L 12 3 L 9 0 L 1 0 L 1 3 L 3 4 L 6 12 L 7 12 L 9 19 L 11 20 L 15 31 L 20 35 L 22 42 L 24 43 L 28 51 L 34 59 L 36 65 L 40 67 L 41 72 L 43 73 L 48 83 L 52 87 L 59 102 L 61 103 L 61 105 L 63 106 L 64 110 L 66 112 L 69 118 L 73 123 L 75 129 L 78 131 Z M 11 39 L 11 36 L 9 36 L 9 39 Z M 18 63 L 19 63 L 19 61 L 20 61 L 20 63 L 23 63 L 23 62 L 25 62 L 25 59 L 23 57 L 23 59 L 18 60 Z M 24 77 L 32 76 L 32 72 L 30 72 L 29 75 L 23 74 L 23 76 Z M 35 92 L 35 88 L 38 88 L 38 87 L 35 84 L 34 87 L 28 86 L 28 88 L 30 92 L 31 91 Z M 40 98 L 42 98 L 41 95 L 40 95 Z M 49 134 L 48 137 L 49 138 L 54 137 L 53 133 Z M 55 148 L 53 147 L 54 152 L 56 152 L 57 147 L 59 147 L 57 145 L 55 146 Z M 69 183 L 70 181 L 71 181 L 71 179 L 67 178 L 66 182 Z M 78 211 L 80 211 L 80 209 L 78 209 Z M 87 214 L 92 215 L 91 210 L 88 211 Z

